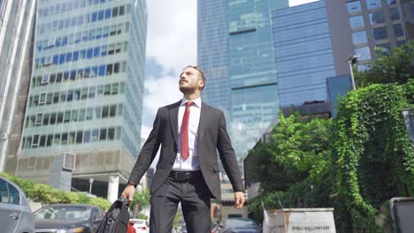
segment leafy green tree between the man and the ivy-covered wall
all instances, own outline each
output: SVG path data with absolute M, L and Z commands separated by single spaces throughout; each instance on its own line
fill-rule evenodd
M 329 140 L 332 120 L 280 115 L 268 143 L 250 150 L 248 176 L 260 182 L 260 193 L 249 210 L 257 222 L 266 208 L 329 207 Z

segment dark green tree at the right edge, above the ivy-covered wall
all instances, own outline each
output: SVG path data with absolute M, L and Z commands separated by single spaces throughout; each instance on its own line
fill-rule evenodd
M 414 41 L 393 49 L 388 55 L 377 53 L 377 61 L 369 65 L 370 70 L 356 72 L 357 86 L 372 84 L 407 83 L 414 78 Z

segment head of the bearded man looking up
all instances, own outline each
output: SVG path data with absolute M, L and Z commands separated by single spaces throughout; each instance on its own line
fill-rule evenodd
M 204 86 L 204 82 L 201 79 L 201 74 L 199 71 L 192 67 L 187 67 L 182 70 L 180 74 L 180 91 L 183 94 L 188 94 L 200 90 Z

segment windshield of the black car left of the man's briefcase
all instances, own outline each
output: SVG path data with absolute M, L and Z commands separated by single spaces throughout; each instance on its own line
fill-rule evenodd
M 42 207 L 35 212 L 35 219 L 87 220 L 91 209 L 88 207 Z

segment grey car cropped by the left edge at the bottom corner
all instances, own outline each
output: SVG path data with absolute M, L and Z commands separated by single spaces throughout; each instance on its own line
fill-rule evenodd
M 33 213 L 25 193 L 4 177 L 0 177 L 0 226 L 1 232 L 35 232 Z

